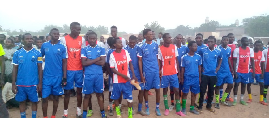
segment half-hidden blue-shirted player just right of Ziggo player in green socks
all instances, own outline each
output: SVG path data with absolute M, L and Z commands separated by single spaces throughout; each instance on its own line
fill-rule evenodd
M 178 34 L 176 36 L 176 46 L 177 46 L 177 52 L 178 52 L 178 56 L 177 56 L 177 60 L 178 60 L 178 65 L 181 65 L 181 57 L 189 52 L 189 48 L 185 45 L 183 45 L 182 42 L 183 41 L 183 36 L 181 34 Z M 182 42 L 182 43 L 181 43 Z M 180 70 L 178 70 L 179 72 L 181 71 L 181 67 L 179 67 Z M 179 99 L 181 97 L 181 90 L 182 90 L 182 85 L 179 84 Z M 174 105 L 174 91 L 173 91 L 173 87 L 170 87 L 170 98 L 171 98 L 171 106 L 169 107 L 169 111 L 172 111 L 175 107 Z

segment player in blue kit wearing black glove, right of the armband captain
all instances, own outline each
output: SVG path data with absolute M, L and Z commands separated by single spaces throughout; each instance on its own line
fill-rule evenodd
M 48 99 L 49 95 L 53 95 L 53 110 L 51 118 L 55 118 L 59 96 L 64 94 L 63 88 L 66 86 L 66 72 L 67 72 L 67 47 L 59 39 L 60 32 L 53 28 L 49 35 L 51 40 L 45 42 L 41 46 L 42 56 L 46 55 L 43 73 L 43 89 L 42 89 L 42 110 L 43 117 L 48 118 Z M 38 40 L 36 40 L 38 42 Z M 37 43 L 38 44 L 38 43 Z

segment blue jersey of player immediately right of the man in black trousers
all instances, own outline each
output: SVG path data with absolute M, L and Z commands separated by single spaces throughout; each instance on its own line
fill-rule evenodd
M 228 60 L 229 57 L 231 57 L 232 48 L 227 46 L 227 48 L 225 49 L 221 47 L 221 45 L 217 46 L 216 48 L 220 49 L 222 53 L 222 62 L 220 65 L 220 70 L 218 72 L 230 72 L 230 66 Z

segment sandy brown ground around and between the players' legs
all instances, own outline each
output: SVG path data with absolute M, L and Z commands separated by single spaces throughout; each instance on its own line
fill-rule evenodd
M 239 86 L 240 88 L 240 86 Z M 186 109 L 187 109 L 187 116 L 186 118 L 194 118 L 194 117 L 200 117 L 200 118 L 216 118 L 216 117 L 220 117 L 220 118 L 268 118 L 269 116 L 269 110 L 268 110 L 268 106 L 264 106 L 259 104 L 259 86 L 258 85 L 252 85 L 252 98 L 253 101 L 252 103 L 250 103 L 248 106 L 243 106 L 241 104 L 239 104 L 239 102 L 237 103 L 237 106 L 232 106 L 232 107 L 226 107 L 221 105 L 220 109 L 216 109 L 217 113 L 213 114 L 209 111 L 207 111 L 205 109 L 205 107 L 203 108 L 203 112 L 204 114 L 200 114 L 200 115 L 194 115 L 193 113 L 189 112 L 189 108 L 190 108 L 190 94 L 187 97 L 187 103 L 186 103 Z M 226 85 L 224 85 L 224 89 L 226 89 Z M 150 90 L 153 94 L 155 94 L 154 90 Z M 225 91 L 225 90 L 224 90 Z M 240 89 L 239 89 L 240 91 Z M 168 92 L 169 93 L 169 92 Z M 240 92 L 238 92 L 240 93 Z M 108 110 L 106 110 L 107 106 L 108 106 L 108 91 L 104 91 L 104 95 L 105 95 L 105 102 L 104 102 L 104 106 L 105 106 L 105 112 L 106 114 L 108 114 Z M 135 112 L 137 111 L 137 107 L 138 107 L 138 91 L 133 91 L 133 98 L 134 98 L 134 109 Z M 168 98 L 169 98 L 169 107 L 171 105 L 171 101 L 170 101 L 170 93 L 168 94 Z M 233 92 L 232 95 L 233 97 Z M 240 95 L 239 95 L 240 96 Z M 268 96 L 268 95 L 267 95 Z M 239 101 L 240 97 L 237 98 Z M 248 95 L 247 95 L 247 91 L 245 93 L 245 97 L 244 100 L 247 101 L 248 99 Z M 269 99 L 268 99 L 269 100 Z M 196 99 L 197 102 L 197 99 Z M 215 98 L 214 98 L 214 102 L 215 102 Z M 48 107 L 48 116 L 51 116 L 52 114 L 52 106 L 53 106 L 53 102 L 49 102 L 49 107 Z M 151 96 L 149 95 L 149 106 L 150 106 L 150 115 L 149 116 L 141 116 L 139 114 L 135 114 L 133 117 L 134 118 L 156 118 L 156 117 L 161 117 L 161 118 L 174 118 L 174 117 L 181 117 L 175 114 L 176 110 L 174 109 L 173 111 L 170 112 L 169 116 L 164 116 L 164 102 L 163 102 L 163 96 L 162 96 L 162 89 L 161 89 L 161 98 L 160 98 L 160 111 L 162 113 L 162 116 L 157 116 L 154 112 L 155 110 L 155 96 Z M 71 97 L 70 98 L 70 103 L 69 103 L 69 118 L 75 118 L 76 115 L 76 107 L 77 107 L 77 102 L 76 102 L 76 97 Z M 98 107 L 98 103 L 97 103 L 97 98 L 95 95 L 92 95 L 92 107 L 94 110 L 94 114 L 92 115 L 92 118 L 100 118 L 100 111 L 99 111 L 99 107 Z M 144 105 L 144 101 L 143 101 L 143 107 L 142 109 L 144 110 L 145 105 Z M 213 107 L 214 108 L 214 107 Z M 123 118 L 127 118 L 127 100 L 122 100 L 122 111 L 124 112 L 124 114 L 122 115 Z M 19 113 L 19 108 L 12 108 L 9 109 L 9 113 L 10 113 L 10 118 L 20 118 L 20 113 Z M 29 106 L 29 109 L 26 110 L 26 117 L 30 118 L 31 117 L 31 107 Z M 63 99 L 60 98 L 59 99 L 59 106 L 58 106 L 58 111 L 56 114 L 56 118 L 62 118 L 63 115 Z M 38 104 L 38 110 L 37 110 L 37 118 L 42 118 L 42 107 L 41 107 L 41 103 Z M 109 118 L 116 118 L 116 113 L 114 114 L 114 116 L 109 116 Z

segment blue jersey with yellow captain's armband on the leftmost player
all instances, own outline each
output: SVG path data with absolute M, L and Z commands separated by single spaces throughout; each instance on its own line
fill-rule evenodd
M 38 84 L 37 63 L 43 63 L 42 54 L 38 49 L 32 48 L 26 51 L 24 48 L 21 48 L 15 51 L 12 64 L 18 65 L 16 85 L 32 86 Z

